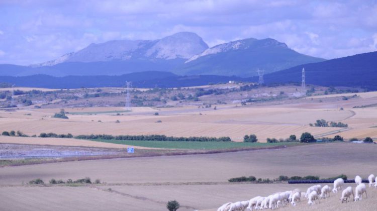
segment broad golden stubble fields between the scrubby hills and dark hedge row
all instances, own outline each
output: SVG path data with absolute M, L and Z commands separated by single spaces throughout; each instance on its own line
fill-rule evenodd
M 374 95 L 373 95 L 374 94 Z M 217 105 L 213 108 L 133 108 L 132 112 L 120 113 L 124 108 L 72 108 L 69 113 L 113 112 L 93 115 L 68 114 L 69 120 L 51 118 L 59 109 L 20 109 L 0 111 L 0 131 L 20 130 L 28 135 L 40 133 L 112 134 L 167 136 L 229 136 L 242 141 L 246 134 L 256 134 L 259 142 L 266 138 L 288 138 L 295 134 L 310 132 L 315 137 L 333 137 L 340 134 L 346 139 L 377 138 L 377 108 L 353 108 L 355 105 L 377 103 L 377 93 L 359 93 L 360 97 L 339 100 L 330 95 L 308 98 L 300 103 L 252 105 L 241 107 L 236 104 Z M 337 95 L 336 95 L 337 96 Z M 334 99 L 333 99 L 334 98 Z M 333 99 L 331 101 L 331 99 Z M 330 100 L 330 101 L 329 101 Z M 340 108 L 344 108 L 340 111 Z M 155 116 L 155 113 L 159 113 Z M 349 128 L 310 127 L 318 119 L 343 122 Z M 119 120 L 120 123 L 116 123 Z M 162 123 L 156 123 L 157 121 Z

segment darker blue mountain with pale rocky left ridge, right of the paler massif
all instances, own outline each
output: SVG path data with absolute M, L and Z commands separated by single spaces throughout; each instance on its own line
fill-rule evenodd
M 324 61 L 324 59 L 300 54 L 285 43 L 274 39 L 245 39 L 224 43 L 205 50 L 185 61 L 174 71 L 177 74 L 198 75 L 256 75 L 287 69 L 299 64 Z

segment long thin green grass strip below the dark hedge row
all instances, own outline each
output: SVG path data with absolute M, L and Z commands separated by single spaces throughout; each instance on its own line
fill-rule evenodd
M 213 150 L 213 149 L 238 149 L 238 148 L 265 148 L 276 146 L 291 146 L 301 143 L 285 142 L 285 143 L 245 143 L 245 142 L 181 142 L 181 141 L 125 141 L 125 140 L 103 140 L 95 139 L 92 141 L 132 145 L 149 148 L 164 149 L 196 149 L 196 150 Z

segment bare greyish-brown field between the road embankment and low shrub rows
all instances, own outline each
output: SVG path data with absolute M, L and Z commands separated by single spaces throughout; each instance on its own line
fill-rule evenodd
M 377 174 L 375 160 L 367 159 L 376 153 L 375 144 L 333 143 L 280 150 L 48 163 L 0 168 L 0 185 L 19 185 L 38 177 L 48 181 L 85 176 L 107 183 L 227 182 L 232 177 L 249 175 L 326 178 L 341 173 L 366 178 L 370 173 Z

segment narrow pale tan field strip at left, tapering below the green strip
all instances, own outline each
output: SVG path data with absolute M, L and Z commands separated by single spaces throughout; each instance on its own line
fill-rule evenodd
M 38 138 L 38 137 L 32 138 L 32 137 L 0 136 L 0 143 L 75 146 L 75 147 L 99 147 L 99 148 L 116 148 L 116 149 L 127 149 L 127 147 L 133 147 L 135 149 L 151 149 L 148 147 L 112 144 L 112 143 L 80 140 L 80 139 Z

